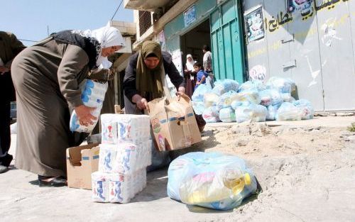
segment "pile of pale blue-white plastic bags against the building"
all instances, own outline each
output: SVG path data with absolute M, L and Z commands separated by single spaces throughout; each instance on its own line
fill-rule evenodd
M 241 85 L 224 79 L 217 81 L 213 89 L 206 84 L 197 87 L 192 95 L 192 106 L 207 123 L 313 118 L 310 101 L 295 100 L 291 96 L 293 91 L 295 82 L 287 78 L 271 77 L 266 84 L 254 80 Z

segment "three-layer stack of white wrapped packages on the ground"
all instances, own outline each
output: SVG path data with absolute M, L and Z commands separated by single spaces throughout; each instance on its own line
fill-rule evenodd
M 151 165 L 150 118 L 103 114 L 99 171 L 92 173 L 92 200 L 128 203 L 146 187 Z

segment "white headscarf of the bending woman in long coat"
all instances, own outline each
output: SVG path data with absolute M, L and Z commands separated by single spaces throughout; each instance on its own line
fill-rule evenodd
M 73 33 L 79 33 L 84 37 L 95 38 L 100 43 L 101 48 L 99 49 L 99 57 L 96 61 L 96 65 L 99 68 L 108 69 L 112 65 L 112 63 L 107 60 L 107 57 L 103 57 L 101 55 L 102 48 L 108 48 L 116 45 L 122 46 L 122 48 L 126 46 L 120 31 L 111 26 L 105 26 L 94 30 L 74 30 Z

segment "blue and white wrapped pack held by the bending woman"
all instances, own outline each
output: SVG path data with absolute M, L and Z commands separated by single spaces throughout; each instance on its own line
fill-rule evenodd
M 91 112 L 91 114 L 92 116 L 95 116 L 98 119 L 102 109 L 102 105 L 104 103 L 108 84 L 94 82 L 90 79 L 87 79 L 83 86 L 84 87 L 82 88 L 82 103 L 85 106 L 96 108 Z M 73 111 L 72 116 L 70 117 L 70 131 L 90 133 L 96 126 L 97 120 L 92 120 L 92 122 L 92 125 L 81 125 L 79 119 L 77 118 L 77 113 Z

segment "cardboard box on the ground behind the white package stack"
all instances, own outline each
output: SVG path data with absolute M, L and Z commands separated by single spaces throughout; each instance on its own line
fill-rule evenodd
M 91 174 L 99 169 L 99 143 L 67 148 L 67 186 L 92 189 Z

